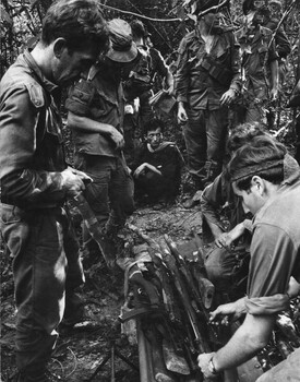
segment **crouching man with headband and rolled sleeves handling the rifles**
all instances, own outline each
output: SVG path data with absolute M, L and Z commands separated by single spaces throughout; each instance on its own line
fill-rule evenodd
M 271 337 L 276 313 L 288 307 L 291 280 L 300 282 L 300 177 L 297 162 L 284 145 L 260 136 L 242 146 L 228 166 L 235 193 L 254 215 L 247 297 L 219 306 L 212 321 L 224 315 L 245 314 L 230 341 L 214 354 L 199 356 L 206 377 L 241 365 L 259 353 Z M 293 278 L 292 278 L 293 277 Z M 298 282 L 298 283 L 297 283 Z M 276 379 L 288 381 L 299 375 L 299 350 L 284 363 Z M 298 359 L 298 361 L 296 361 Z

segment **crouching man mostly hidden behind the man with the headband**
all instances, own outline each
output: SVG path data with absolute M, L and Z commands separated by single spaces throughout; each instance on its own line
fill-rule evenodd
M 228 152 L 233 153 L 245 143 L 251 143 L 255 136 L 266 134 L 257 122 L 238 126 L 229 135 Z M 249 248 L 251 242 L 251 218 L 244 212 L 242 201 L 233 193 L 231 183 L 223 171 L 212 184 L 207 186 L 201 195 L 202 229 L 204 238 L 212 234 L 215 244 L 212 246 L 205 259 L 208 278 L 218 293 L 226 298 L 244 295 L 241 285 L 237 283 L 248 274 Z M 226 216 L 229 226 L 224 226 L 219 211 L 227 205 Z

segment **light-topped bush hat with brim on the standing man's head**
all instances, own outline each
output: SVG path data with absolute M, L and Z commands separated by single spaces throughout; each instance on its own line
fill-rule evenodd
M 112 19 L 107 23 L 110 47 L 106 56 L 117 62 L 131 62 L 137 56 L 129 23 L 122 19 Z

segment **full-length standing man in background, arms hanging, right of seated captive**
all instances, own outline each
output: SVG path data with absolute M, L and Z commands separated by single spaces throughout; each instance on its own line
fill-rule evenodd
M 228 105 L 240 91 L 239 46 L 232 32 L 220 26 L 220 10 L 209 12 L 219 3 L 197 2 L 195 29 L 180 43 L 175 77 L 178 120 L 196 189 L 221 171 Z

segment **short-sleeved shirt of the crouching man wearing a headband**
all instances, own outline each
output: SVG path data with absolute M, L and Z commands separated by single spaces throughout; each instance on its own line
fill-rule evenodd
M 300 282 L 300 178 L 284 181 L 253 220 L 248 297 L 286 294 L 290 276 Z

